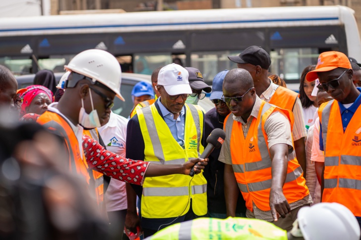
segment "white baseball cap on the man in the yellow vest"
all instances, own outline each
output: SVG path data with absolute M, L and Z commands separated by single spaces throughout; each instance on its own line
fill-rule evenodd
M 189 74 L 185 68 L 172 63 L 160 69 L 157 84 L 164 86 L 169 95 L 191 94 L 192 89 L 188 77 Z

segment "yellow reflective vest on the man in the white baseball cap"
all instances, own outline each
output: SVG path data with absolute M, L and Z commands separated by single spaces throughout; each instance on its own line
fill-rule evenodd
M 194 105 L 187 105 L 183 149 L 173 138 L 169 127 L 159 115 L 155 104 L 137 110 L 145 143 L 145 161 L 156 164 L 182 164 L 189 158 L 198 158 L 204 148 L 203 113 Z M 207 182 L 203 172 L 192 177 L 174 174 L 147 177 L 143 184 L 142 216 L 146 218 L 170 218 L 188 212 L 190 197 L 196 215 L 207 213 Z M 184 210 L 184 211 L 183 211 Z

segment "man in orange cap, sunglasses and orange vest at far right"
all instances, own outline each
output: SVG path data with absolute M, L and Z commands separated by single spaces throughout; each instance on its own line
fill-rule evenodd
M 341 52 L 323 52 L 306 80 L 319 79 L 318 88 L 334 98 L 318 110 L 320 150 L 324 151 L 322 201 L 347 206 L 361 226 L 361 88 Z

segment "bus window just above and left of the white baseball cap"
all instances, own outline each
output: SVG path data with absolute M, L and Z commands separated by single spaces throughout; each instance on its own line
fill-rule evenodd
M 172 60 L 170 53 L 136 53 L 133 58 L 134 73 L 151 75 L 156 68 L 170 64 Z

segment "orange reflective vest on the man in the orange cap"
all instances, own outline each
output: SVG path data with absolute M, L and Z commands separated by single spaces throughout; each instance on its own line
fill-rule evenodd
M 322 201 L 341 203 L 361 216 L 361 107 L 345 132 L 336 100 L 323 103 L 318 116 L 325 156 Z

